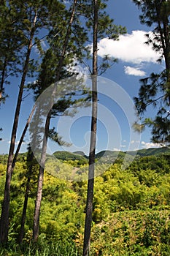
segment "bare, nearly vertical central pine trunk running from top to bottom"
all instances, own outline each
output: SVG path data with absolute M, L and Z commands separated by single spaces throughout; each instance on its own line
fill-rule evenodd
M 96 152 L 96 132 L 97 132 L 97 39 L 98 39 L 98 0 L 93 0 L 93 76 L 92 76 L 92 117 L 91 117 L 91 135 L 90 135 L 90 154 L 88 168 L 88 195 L 85 212 L 85 231 L 83 256 L 88 256 L 90 252 L 90 231 L 93 214 L 93 187 L 95 170 L 95 152 Z

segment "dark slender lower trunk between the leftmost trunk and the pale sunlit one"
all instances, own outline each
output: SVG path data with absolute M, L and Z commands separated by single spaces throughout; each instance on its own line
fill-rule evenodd
M 26 222 L 26 210 L 27 210 L 27 205 L 28 205 L 28 195 L 29 195 L 29 191 L 30 191 L 30 181 L 31 181 L 31 176 L 32 176 L 32 168 L 33 168 L 32 161 L 33 161 L 33 159 L 34 159 L 34 154 L 31 152 L 31 156 L 29 159 L 29 162 L 31 162 L 31 165 L 28 170 L 28 178 L 27 178 L 27 182 L 26 182 L 26 192 L 25 192 L 24 203 L 23 203 L 23 214 L 22 214 L 21 223 L 20 223 L 20 233 L 18 236 L 19 244 L 22 244 L 23 236 L 24 236 L 24 226 L 25 226 L 25 222 Z

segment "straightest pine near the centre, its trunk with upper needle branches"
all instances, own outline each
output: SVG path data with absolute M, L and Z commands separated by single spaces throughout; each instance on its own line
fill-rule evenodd
M 125 28 L 116 26 L 109 15 L 105 12 L 106 1 L 82 1 L 80 10 L 87 18 L 86 26 L 92 29 L 93 34 L 93 56 L 92 56 L 92 114 L 91 114 L 91 135 L 90 135 L 90 153 L 88 167 L 88 192 L 85 211 L 85 231 L 83 243 L 83 256 L 90 253 L 90 230 L 93 217 L 93 189 L 94 189 L 94 172 L 95 172 L 95 152 L 96 152 L 96 132 L 97 132 L 97 112 L 98 112 L 98 91 L 97 76 L 105 72 L 109 67 L 107 62 L 109 56 L 104 58 L 100 63 L 98 61 L 98 39 L 109 37 L 109 39 L 118 39 L 120 34 L 125 33 Z M 110 63 L 115 59 L 109 59 Z M 100 73 L 99 73 L 100 72 Z

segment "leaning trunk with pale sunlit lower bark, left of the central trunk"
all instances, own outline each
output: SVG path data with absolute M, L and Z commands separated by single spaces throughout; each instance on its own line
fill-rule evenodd
M 63 66 L 63 60 L 64 56 L 66 54 L 66 47 L 69 42 L 69 35 L 71 33 L 72 23 L 74 20 L 74 14 L 76 9 L 77 0 L 74 0 L 73 7 L 72 7 L 72 14 L 69 20 L 69 25 L 66 31 L 66 37 L 63 43 L 63 49 L 61 53 L 61 59 L 59 60 L 58 64 L 58 73 L 56 75 L 56 81 L 60 79 L 61 75 L 61 68 Z M 53 91 L 53 94 L 55 94 L 55 89 Z M 53 101 L 51 102 L 51 108 L 53 108 Z M 42 156 L 41 156 L 41 164 L 39 166 L 39 179 L 38 179 L 38 185 L 37 185 L 37 193 L 36 193 L 36 205 L 34 210 L 34 226 L 33 226 L 33 240 L 34 242 L 37 241 L 39 236 L 39 216 L 40 216 L 40 208 L 41 208 L 41 201 L 42 201 L 42 185 L 43 185 L 43 179 L 44 179 L 44 170 L 45 170 L 45 159 L 46 159 L 46 152 L 47 152 L 47 136 L 50 128 L 50 113 L 47 115 L 46 123 L 45 123 L 45 135 L 43 139 L 43 145 L 42 145 Z

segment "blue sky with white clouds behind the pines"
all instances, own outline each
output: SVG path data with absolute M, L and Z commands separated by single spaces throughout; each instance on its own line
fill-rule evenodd
M 111 39 L 101 39 L 98 42 L 98 56 L 104 56 L 109 54 L 112 57 L 117 58 L 119 61 L 114 64 L 111 69 L 108 69 L 104 73 L 103 77 L 115 83 L 115 88 L 120 88 L 124 91 L 120 102 L 114 102 L 115 92 L 113 91 L 109 97 L 106 95 L 100 96 L 100 104 L 104 106 L 108 111 L 111 111 L 114 116 L 113 123 L 110 119 L 107 119 L 107 125 L 105 121 L 98 121 L 98 143 L 97 151 L 101 150 L 123 150 L 136 149 L 136 148 L 149 148 L 155 145 L 150 143 L 150 129 L 146 129 L 141 136 L 135 135 L 131 132 L 129 127 L 130 116 L 134 116 L 134 113 L 130 113 L 133 97 L 136 97 L 139 91 L 139 79 L 150 75 L 150 72 L 160 72 L 163 69 L 163 64 L 157 64 L 158 54 L 155 53 L 152 48 L 144 45 L 146 39 L 144 34 L 150 31 L 150 28 L 143 26 L 139 22 L 139 10 L 131 0 L 109 0 L 107 12 L 114 18 L 115 24 L 125 26 L 127 34 L 120 37 L 120 40 L 115 42 Z M 81 70 L 84 70 L 83 67 Z M 28 79 L 29 80 L 29 79 Z M 11 136 L 12 121 L 15 113 L 16 100 L 18 96 L 18 84 L 19 80 L 12 78 L 11 84 L 7 86 L 7 93 L 9 98 L 5 105 L 1 105 L 0 118 L 3 132 L 1 132 L 0 142 L 0 154 L 6 154 L 9 148 L 9 140 Z M 25 93 L 25 96 L 28 93 Z M 125 105 L 125 101 L 130 105 Z M 28 95 L 24 100 L 20 111 L 20 121 L 18 125 L 18 136 L 16 144 L 20 138 L 20 133 L 23 131 L 23 127 L 28 118 L 28 114 L 33 106 L 33 100 L 31 95 Z M 127 112 L 125 111 L 125 108 Z M 109 112 L 108 112 L 109 113 Z M 147 116 L 152 116 L 153 112 L 150 110 L 146 113 Z M 108 114 L 109 118 L 109 114 Z M 69 125 L 69 119 L 63 119 L 67 127 L 67 121 Z M 62 123 L 63 120 L 53 120 L 52 126 Z M 61 126 L 62 127 L 62 126 Z M 116 127 L 115 129 L 111 129 Z M 48 152 L 57 150 L 69 150 L 76 151 L 82 150 L 88 154 L 89 138 L 90 138 L 90 117 L 81 116 L 74 118 L 72 123 L 72 129 L 69 131 L 70 138 L 73 146 L 70 148 L 60 148 L 53 143 L 49 143 Z M 109 132 L 108 132 L 109 131 Z M 63 132 L 63 129 L 60 131 Z M 109 137 L 108 137 L 109 133 Z M 61 134 L 63 139 L 66 139 L 66 132 Z M 132 135 L 132 137 L 131 137 Z M 109 138 L 109 143 L 108 143 Z M 112 146 L 110 145 L 110 141 Z M 21 151 L 26 151 L 27 143 L 29 142 L 28 135 L 25 143 L 23 144 Z M 137 144 L 135 146 L 135 144 Z

